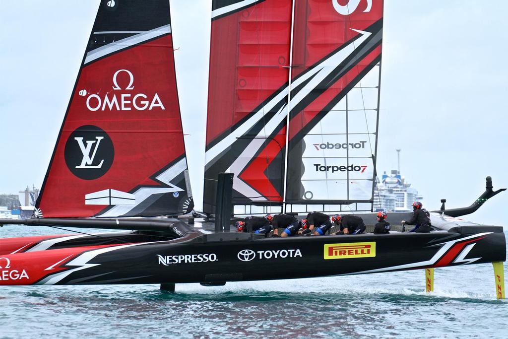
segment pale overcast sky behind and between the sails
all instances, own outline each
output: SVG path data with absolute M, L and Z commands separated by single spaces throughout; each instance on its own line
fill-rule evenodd
M 297 0 L 300 1 L 300 0 Z M 331 0 L 330 0 L 331 1 Z M 365 0 L 362 0 L 365 1 Z M 376 1 L 376 0 L 373 0 Z M 0 193 L 41 187 L 98 0 L 0 2 Z M 172 0 L 178 95 L 202 204 L 211 0 Z M 386 0 L 377 172 L 397 168 L 438 209 L 508 187 L 508 2 Z M 467 220 L 503 225 L 508 193 Z

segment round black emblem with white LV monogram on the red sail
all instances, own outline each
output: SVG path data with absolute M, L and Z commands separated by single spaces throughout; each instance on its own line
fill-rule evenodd
M 78 178 L 100 178 L 113 164 L 115 149 L 109 135 L 97 126 L 81 126 L 65 144 L 65 162 Z

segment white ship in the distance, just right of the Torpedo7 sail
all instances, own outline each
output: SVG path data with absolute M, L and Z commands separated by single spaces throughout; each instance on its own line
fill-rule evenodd
M 391 174 L 383 174 L 374 185 L 374 210 L 388 212 L 412 211 L 412 203 L 422 200 L 418 191 L 411 187 L 400 172 L 392 170 Z

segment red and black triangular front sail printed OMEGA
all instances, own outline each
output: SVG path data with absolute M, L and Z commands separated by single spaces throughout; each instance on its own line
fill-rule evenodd
M 168 0 L 102 0 L 37 207 L 44 217 L 192 209 Z

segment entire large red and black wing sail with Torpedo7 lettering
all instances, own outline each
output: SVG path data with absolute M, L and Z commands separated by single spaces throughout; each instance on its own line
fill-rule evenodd
M 233 204 L 370 210 L 383 1 L 212 6 L 204 211 L 219 172 Z

